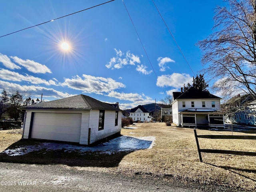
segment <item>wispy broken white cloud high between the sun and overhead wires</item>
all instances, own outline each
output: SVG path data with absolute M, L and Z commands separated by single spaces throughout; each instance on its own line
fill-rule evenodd
M 140 64 L 140 57 L 130 53 L 130 51 L 124 54 L 121 50 L 114 49 L 116 51 L 116 57 L 110 59 L 110 62 L 106 64 L 106 67 L 120 69 L 124 65 L 135 65 L 136 63 Z

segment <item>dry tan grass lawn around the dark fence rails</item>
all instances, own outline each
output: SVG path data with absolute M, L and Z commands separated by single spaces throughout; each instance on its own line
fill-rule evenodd
M 140 123 L 137 129 L 122 129 L 121 134 L 133 137 L 154 136 L 152 149 L 127 153 L 116 166 L 98 167 L 98 170 L 160 176 L 166 181 L 217 184 L 242 190 L 256 190 L 256 156 L 202 153 L 199 162 L 194 131 L 190 128 L 166 126 L 165 123 Z M 231 135 L 231 132 L 197 130 L 198 135 Z M 233 135 L 254 135 L 233 132 Z M 0 131 L 0 152 L 20 140 L 21 134 Z M 198 138 L 200 148 L 256 152 L 256 140 L 224 140 Z M 99 157 L 99 154 L 97 154 Z M 118 156 L 102 155 L 102 162 Z M 92 158 L 93 159 L 93 158 Z M 98 162 L 97 161 L 97 162 Z M 88 169 L 90 166 L 80 166 Z M 95 167 L 94 167 L 95 168 Z

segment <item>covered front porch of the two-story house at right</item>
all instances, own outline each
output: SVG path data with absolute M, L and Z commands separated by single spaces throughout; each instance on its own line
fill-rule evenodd
M 180 111 L 180 124 L 182 127 L 224 128 L 224 116 L 212 112 L 214 110 L 188 109 Z

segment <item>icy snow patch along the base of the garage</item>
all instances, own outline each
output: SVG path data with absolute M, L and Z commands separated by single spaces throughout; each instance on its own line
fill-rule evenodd
M 78 146 L 74 144 L 62 144 L 54 142 L 42 142 L 35 145 L 17 147 L 15 149 L 6 149 L 3 153 L 6 153 L 9 156 L 20 156 L 28 154 L 33 151 L 40 150 L 64 150 L 64 152 L 99 152 L 100 154 L 114 154 L 116 152 L 125 152 L 125 151 L 135 151 L 140 149 L 151 149 L 154 146 L 154 140 L 156 138 L 153 136 L 147 137 L 130 137 L 130 136 L 120 136 L 98 144 L 97 146 Z

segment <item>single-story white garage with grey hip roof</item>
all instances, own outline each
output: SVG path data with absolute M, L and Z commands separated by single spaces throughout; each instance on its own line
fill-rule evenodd
M 22 106 L 23 139 L 57 140 L 92 144 L 120 134 L 122 112 L 117 104 L 86 95 Z

